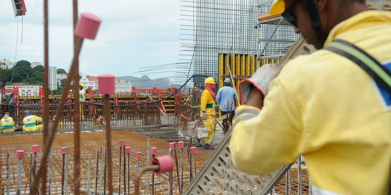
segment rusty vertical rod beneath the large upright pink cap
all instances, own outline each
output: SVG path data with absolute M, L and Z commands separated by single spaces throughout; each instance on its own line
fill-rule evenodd
M 108 164 L 108 186 L 109 186 L 109 195 L 113 194 L 113 162 L 111 159 L 111 129 L 110 129 L 110 120 L 111 120 L 111 109 L 110 109 L 110 95 L 104 96 L 105 106 L 104 112 L 106 116 L 106 148 L 107 148 L 107 164 Z

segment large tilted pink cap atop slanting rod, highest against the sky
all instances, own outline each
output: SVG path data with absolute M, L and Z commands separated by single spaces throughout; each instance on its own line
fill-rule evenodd
M 85 39 L 95 39 L 102 20 L 91 13 L 81 13 L 76 23 L 75 35 Z

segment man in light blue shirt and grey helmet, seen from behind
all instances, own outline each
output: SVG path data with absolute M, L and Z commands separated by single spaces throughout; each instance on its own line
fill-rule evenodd
M 235 116 L 235 105 L 231 108 L 231 102 L 236 100 L 236 92 L 231 87 L 231 79 L 226 78 L 224 80 L 224 87 L 221 87 L 216 95 L 216 103 L 218 105 L 229 105 L 229 106 L 220 106 L 221 115 L 224 116 L 231 111 L 230 122 L 232 121 L 233 116 Z M 228 102 L 230 102 L 228 104 Z M 224 129 L 226 129 L 227 119 L 223 119 L 222 124 Z M 228 130 L 228 129 L 227 129 Z

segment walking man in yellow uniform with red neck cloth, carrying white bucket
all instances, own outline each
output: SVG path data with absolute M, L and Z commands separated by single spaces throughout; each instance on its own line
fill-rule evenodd
M 215 100 L 216 95 L 213 92 L 215 88 L 215 80 L 213 77 L 208 77 L 205 79 L 205 90 L 201 95 L 201 113 L 202 120 L 204 122 L 204 126 L 208 127 L 208 137 L 198 137 L 198 135 L 194 136 L 194 142 L 197 147 L 201 146 L 200 139 L 204 139 L 204 149 L 215 149 L 215 147 L 210 145 L 213 139 L 213 131 L 215 127 Z

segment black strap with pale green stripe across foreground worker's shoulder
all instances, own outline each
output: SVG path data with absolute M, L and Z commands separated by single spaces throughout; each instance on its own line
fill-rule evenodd
M 369 74 L 384 90 L 391 94 L 391 72 L 361 48 L 343 41 L 334 40 L 323 50 L 329 50 L 352 60 Z

